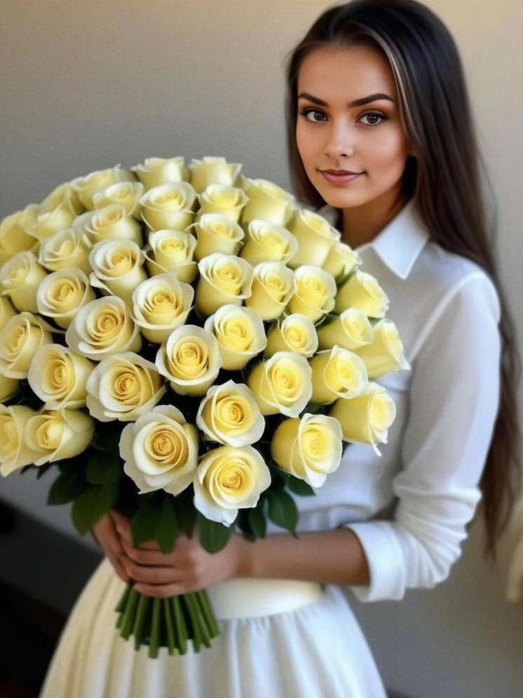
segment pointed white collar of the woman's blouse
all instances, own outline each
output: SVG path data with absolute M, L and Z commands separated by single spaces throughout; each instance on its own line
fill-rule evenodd
M 336 224 L 338 210 L 326 205 L 317 212 Z M 430 238 L 425 223 L 415 210 L 414 200 L 404 205 L 395 218 L 381 230 L 369 243 L 355 247 L 358 254 L 371 247 L 378 257 L 399 278 L 406 279 L 416 259 Z

